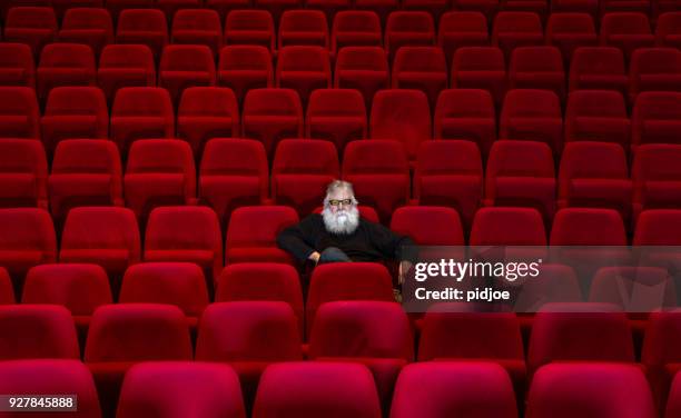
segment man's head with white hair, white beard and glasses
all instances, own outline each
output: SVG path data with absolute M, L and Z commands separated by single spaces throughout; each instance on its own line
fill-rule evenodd
M 328 185 L 322 217 L 329 232 L 353 233 L 357 229 L 359 210 L 357 210 L 357 200 L 352 183 L 334 180 Z

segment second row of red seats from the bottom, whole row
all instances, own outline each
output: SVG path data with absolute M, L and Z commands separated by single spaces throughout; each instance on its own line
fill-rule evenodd
M 413 331 L 399 305 L 327 302 L 317 311 L 309 347 L 304 354 L 295 315 L 286 303 L 220 302 L 208 306 L 201 315 L 195 351 L 185 316 L 177 307 L 109 305 L 98 308 L 92 316 L 83 358 L 95 377 L 105 410 L 115 410 L 125 375 L 136 362 L 196 359 L 229 364 L 239 375 L 246 404 L 250 406 L 263 385 L 260 376 L 264 371 L 267 374 L 267 366 L 299 361 L 304 355 L 312 360 L 367 366 L 383 408 L 391 407 L 401 370 L 415 359 L 435 360 L 440 366 L 443 364 L 437 361 L 497 364 L 509 387 L 514 388 L 511 405 L 515 404 L 515 397 L 521 402 L 525 399 L 527 387 L 532 400 L 531 382 L 540 378 L 545 365 L 563 361 L 573 362 L 570 366 L 580 361 L 631 365 L 639 372 L 645 372 L 657 405 L 665 405 L 679 368 L 674 355 L 674 348 L 679 348 L 678 311 L 651 314 L 641 366 L 638 366 L 625 314 L 602 303 L 551 303 L 547 309 L 562 311 L 540 311 L 535 316 L 525 361 L 520 322 L 513 314 L 435 309 L 424 317 L 415 356 Z M 6 338 L 24 337 L 19 339 L 19 346 L 4 346 L 1 355 L 6 360 L 80 358 L 73 320 L 63 307 L 0 307 L 0 326 L 7 327 L 1 334 Z M 260 334 L 253 338 L 255 330 L 267 330 L 266 337 Z M 640 376 L 650 396 L 649 382 L 643 374 Z M 651 416 L 654 416 L 655 401 L 649 398 Z

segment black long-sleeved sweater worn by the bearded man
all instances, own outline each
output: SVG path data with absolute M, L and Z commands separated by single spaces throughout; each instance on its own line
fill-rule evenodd
M 385 259 L 409 259 L 403 247 L 414 246 L 404 236 L 398 236 L 381 223 L 359 218 L 359 226 L 351 235 L 332 233 L 326 230 L 319 213 L 313 213 L 300 223 L 286 228 L 277 237 L 277 245 L 300 261 L 314 251 L 322 252 L 337 247 L 353 261 L 379 261 Z

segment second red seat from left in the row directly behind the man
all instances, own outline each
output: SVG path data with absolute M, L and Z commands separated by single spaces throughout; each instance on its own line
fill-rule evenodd
M 108 140 L 69 139 L 55 151 L 48 179 L 56 219 L 79 206 L 122 206 L 122 169 L 116 145 Z

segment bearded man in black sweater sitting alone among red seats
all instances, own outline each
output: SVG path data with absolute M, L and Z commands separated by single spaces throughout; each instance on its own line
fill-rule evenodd
M 399 282 L 412 265 L 407 248 L 414 246 L 408 237 L 361 218 L 353 185 L 342 180 L 326 188 L 322 215 L 309 215 L 300 223 L 283 230 L 277 243 L 296 259 L 315 265 L 401 260 Z

